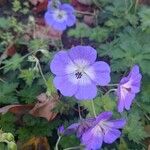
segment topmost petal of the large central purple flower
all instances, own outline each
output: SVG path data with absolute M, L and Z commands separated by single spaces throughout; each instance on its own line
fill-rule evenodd
M 71 48 L 68 53 L 75 63 L 78 63 L 78 60 L 83 60 L 87 65 L 94 63 L 97 56 L 96 50 L 91 46 L 76 46 Z

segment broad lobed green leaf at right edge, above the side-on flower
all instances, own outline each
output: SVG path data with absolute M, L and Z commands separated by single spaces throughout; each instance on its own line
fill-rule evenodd
M 124 71 L 134 64 L 139 64 L 143 73 L 150 74 L 150 69 L 147 68 L 150 63 L 149 40 L 148 34 L 144 34 L 138 29 L 127 28 L 110 44 L 103 45 L 104 53 L 101 55 L 108 55 L 112 58 L 113 71 Z

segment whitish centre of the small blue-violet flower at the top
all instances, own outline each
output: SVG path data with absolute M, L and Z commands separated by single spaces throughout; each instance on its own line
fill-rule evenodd
M 63 22 L 67 19 L 67 13 L 64 10 L 54 10 L 53 17 L 57 22 Z

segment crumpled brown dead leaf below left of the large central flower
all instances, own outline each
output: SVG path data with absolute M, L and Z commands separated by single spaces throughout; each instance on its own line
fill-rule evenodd
M 58 98 L 58 95 L 49 98 L 45 93 L 41 93 L 37 97 L 37 103 L 29 113 L 36 117 L 43 117 L 48 121 L 53 120 L 57 113 L 52 112 L 52 110 L 55 108 Z

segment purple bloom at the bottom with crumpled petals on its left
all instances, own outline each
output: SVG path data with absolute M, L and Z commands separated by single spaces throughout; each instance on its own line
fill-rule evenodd
M 67 128 L 76 131 L 86 150 L 97 150 L 103 142 L 111 144 L 121 136 L 119 129 L 126 124 L 124 119 L 109 120 L 112 112 L 103 112 L 97 118 L 75 123 Z

